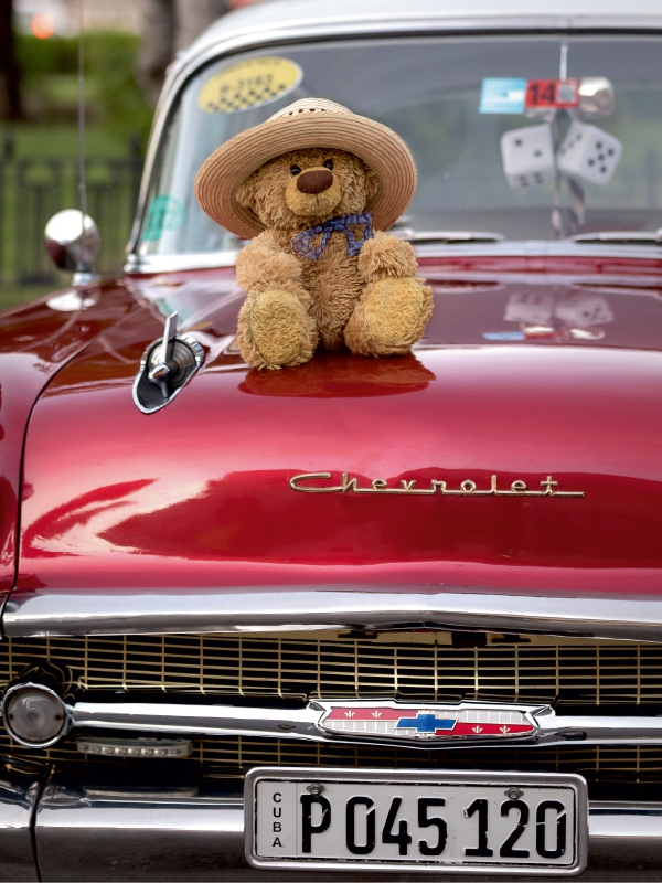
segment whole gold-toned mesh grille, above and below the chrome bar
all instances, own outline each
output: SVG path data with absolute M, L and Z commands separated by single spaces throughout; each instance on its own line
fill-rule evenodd
M 503 642 L 500 636 L 488 640 L 485 647 L 466 648 L 453 647 L 447 632 L 376 639 L 346 634 L 9 639 L 0 641 L 0 681 L 49 663 L 65 674 L 72 691 L 662 704 L 662 645 L 554 638 Z M 0 731 L 0 754 L 58 766 L 85 764 L 75 740 L 70 735 L 47 751 L 26 752 Z M 196 737 L 190 758 L 168 763 L 222 777 L 243 776 L 253 766 L 269 764 L 576 772 L 590 781 L 662 778 L 660 746 L 413 751 L 228 736 Z

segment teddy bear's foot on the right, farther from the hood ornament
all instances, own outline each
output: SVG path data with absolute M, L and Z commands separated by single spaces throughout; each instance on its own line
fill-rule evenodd
M 345 343 L 363 355 L 407 352 L 433 308 L 431 290 L 418 279 L 380 279 L 369 285 L 345 327 Z

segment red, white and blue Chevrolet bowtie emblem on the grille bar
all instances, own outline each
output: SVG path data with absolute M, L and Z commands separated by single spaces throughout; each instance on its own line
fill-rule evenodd
M 476 742 L 522 740 L 538 732 L 535 713 L 544 709 L 460 702 L 457 705 L 374 702 L 317 702 L 324 709 L 318 726 L 327 733 L 361 741 Z

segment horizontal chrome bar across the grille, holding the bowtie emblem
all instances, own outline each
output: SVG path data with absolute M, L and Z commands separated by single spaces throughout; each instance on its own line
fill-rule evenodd
M 305 740 L 308 742 L 348 743 L 351 745 L 397 746 L 429 751 L 431 747 L 467 748 L 477 745 L 511 747 L 564 745 L 662 745 L 662 717 L 626 715 L 556 714 L 549 706 L 520 703 L 460 702 L 457 705 L 430 702 L 416 703 L 427 713 L 438 711 L 457 714 L 467 711 L 522 712 L 533 724 L 531 733 L 510 736 L 435 736 L 413 738 L 378 733 L 339 732 L 324 724 L 335 706 L 414 708 L 412 703 L 389 700 L 313 700 L 302 709 L 273 709 L 259 705 L 223 705 L 177 702 L 76 702 L 68 706 L 70 728 L 87 727 L 124 730 L 143 733 L 202 734 L 209 736 L 263 736 L 267 738 Z M 479 728 L 479 727 L 477 727 Z

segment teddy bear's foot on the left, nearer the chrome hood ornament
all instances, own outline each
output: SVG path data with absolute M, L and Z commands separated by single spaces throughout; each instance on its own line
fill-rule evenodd
M 312 320 L 299 298 L 271 289 L 257 297 L 248 317 L 249 332 L 258 359 L 257 368 L 300 365 L 314 352 L 317 336 Z

